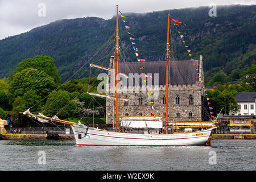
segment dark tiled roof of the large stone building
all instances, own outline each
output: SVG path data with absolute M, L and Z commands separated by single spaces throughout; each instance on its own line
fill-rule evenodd
M 197 72 L 199 71 L 198 60 L 170 61 L 170 63 L 170 85 L 193 85 L 196 83 L 198 80 Z M 141 66 L 144 69 L 141 69 Z M 166 84 L 166 61 L 119 63 L 119 71 L 126 75 L 129 73 L 138 73 L 139 75 L 152 73 L 154 76 L 154 73 L 159 73 L 159 85 Z M 152 84 L 154 84 L 154 78 Z

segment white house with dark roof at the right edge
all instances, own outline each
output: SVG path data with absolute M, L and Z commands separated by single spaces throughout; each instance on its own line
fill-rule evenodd
M 256 92 L 240 92 L 234 98 L 238 104 L 238 111 L 232 111 L 229 115 L 256 115 Z

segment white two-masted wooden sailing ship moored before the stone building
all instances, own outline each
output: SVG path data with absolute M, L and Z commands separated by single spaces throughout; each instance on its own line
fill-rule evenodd
M 112 68 L 101 65 L 90 64 L 90 67 L 104 69 L 115 74 L 114 94 L 99 94 L 88 92 L 91 96 L 105 97 L 113 100 L 113 131 L 89 127 L 79 123 L 64 121 L 56 115 L 46 117 L 42 113 L 32 114 L 29 109 L 23 114 L 38 119 L 40 122 L 59 122 L 71 125 L 77 146 L 184 146 L 184 145 L 210 145 L 212 130 L 216 128 L 214 122 L 170 122 L 168 121 L 168 77 L 170 64 L 169 44 L 170 15 L 168 15 L 167 47 L 166 47 L 166 114 L 164 122 L 162 116 L 130 116 L 119 115 L 119 100 L 129 101 L 130 98 L 119 97 L 118 75 L 127 77 L 119 72 L 119 34 L 118 34 L 118 6 L 116 8 L 116 30 L 115 30 L 115 52 L 112 59 Z M 184 128 L 183 132 L 175 132 L 174 128 Z M 191 127 L 201 130 L 192 131 Z M 144 132 L 139 133 L 130 129 L 143 128 Z M 124 130 L 126 129 L 126 130 Z

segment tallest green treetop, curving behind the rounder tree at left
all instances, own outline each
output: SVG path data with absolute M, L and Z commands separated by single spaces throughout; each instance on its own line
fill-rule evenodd
M 35 68 L 39 71 L 44 71 L 47 75 L 51 76 L 57 84 L 60 84 L 60 74 L 52 57 L 35 56 L 32 59 L 24 59 L 18 64 L 17 72 L 21 72 L 27 68 Z

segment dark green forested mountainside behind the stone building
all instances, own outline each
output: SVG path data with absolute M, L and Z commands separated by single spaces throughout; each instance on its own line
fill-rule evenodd
M 206 86 L 241 79 L 241 73 L 255 63 L 255 5 L 217 6 L 125 14 L 135 35 L 136 46 L 147 61 L 164 60 L 167 14 L 184 22 L 184 35 L 193 59 L 203 55 Z M 122 11 L 122 7 L 119 7 Z M 114 10 L 113 10 L 114 11 Z M 120 17 L 121 18 L 121 17 Z M 122 61 L 137 61 L 125 26 L 119 21 Z M 146 28 L 145 28 L 146 27 Z M 114 52 L 115 18 L 95 17 L 57 20 L 29 32 L 0 40 L 0 78 L 10 77 L 18 63 L 36 55 L 51 56 L 61 82 L 89 77 L 89 64 L 108 65 Z M 175 27 L 171 26 L 175 60 L 189 60 Z M 82 69 L 81 69 L 82 68 Z

